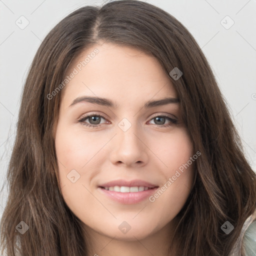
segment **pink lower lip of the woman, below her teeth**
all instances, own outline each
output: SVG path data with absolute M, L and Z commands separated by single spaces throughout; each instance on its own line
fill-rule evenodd
M 127 193 L 110 191 L 102 187 L 98 187 L 98 188 L 100 189 L 100 191 L 102 191 L 103 194 L 109 196 L 112 200 L 116 202 L 134 204 L 148 198 L 152 193 L 155 192 L 155 190 L 158 187 L 150 188 L 150 189 L 139 191 L 139 192 L 127 192 Z

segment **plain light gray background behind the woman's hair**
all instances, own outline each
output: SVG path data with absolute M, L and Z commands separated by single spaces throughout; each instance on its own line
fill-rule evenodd
M 78 7 L 104 2 L 107 1 L 0 0 L 0 186 L 5 183 L 15 138 L 22 86 L 42 39 Z M 195 37 L 226 98 L 247 159 L 256 170 L 256 0 L 146 2 L 172 14 Z M 16 24 L 25 24 L 22 15 L 29 21 L 23 29 Z M 234 24 L 228 28 L 232 20 Z M 0 196 L 0 216 L 6 191 L 5 186 Z

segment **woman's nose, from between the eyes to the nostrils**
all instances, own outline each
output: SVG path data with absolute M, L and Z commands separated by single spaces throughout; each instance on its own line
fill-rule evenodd
M 146 138 L 142 136 L 141 130 L 133 124 L 126 130 L 118 126 L 117 134 L 112 139 L 111 162 L 113 164 L 124 164 L 130 167 L 143 166 L 148 161 L 148 149 Z

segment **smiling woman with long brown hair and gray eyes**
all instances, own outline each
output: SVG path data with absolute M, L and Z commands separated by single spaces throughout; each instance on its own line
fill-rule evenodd
M 49 32 L 7 177 L 7 255 L 255 255 L 256 175 L 198 44 L 149 3 Z

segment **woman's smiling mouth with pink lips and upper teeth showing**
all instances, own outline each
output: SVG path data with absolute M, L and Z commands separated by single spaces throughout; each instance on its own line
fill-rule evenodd
M 142 180 L 115 180 L 99 185 L 98 189 L 115 202 L 135 204 L 148 198 L 158 187 Z

